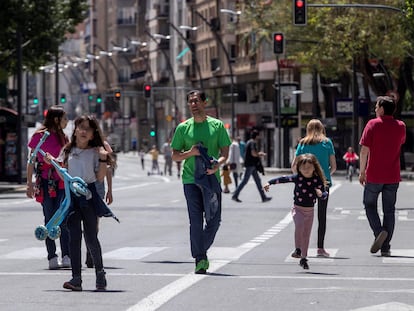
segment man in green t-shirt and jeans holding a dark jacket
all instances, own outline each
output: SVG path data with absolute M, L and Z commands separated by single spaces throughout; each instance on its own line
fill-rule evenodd
M 209 268 L 207 251 L 221 222 L 220 166 L 226 163 L 230 137 L 222 121 L 207 116 L 207 98 L 203 91 L 187 94 L 192 118 L 180 123 L 171 142 L 173 161 L 184 161 L 182 181 L 190 219 L 191 255 L 195 273 Z M 205 152 L 213 160 L 205 164 Z M 205 221 L 205 226 L 204 226 Z

